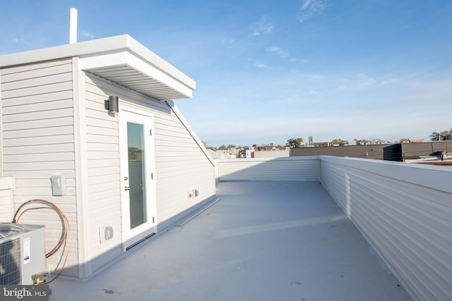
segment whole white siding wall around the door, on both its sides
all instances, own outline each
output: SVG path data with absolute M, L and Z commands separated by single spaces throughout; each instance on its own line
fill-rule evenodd
M 119 137 L 117 116 L 107 114 L 104 100 L 119 96 L 123 105 L 154 116 L 155 180 L 157 223 L 169 225 L 186 209 L 215 195 L 213 164 L 203 154 L 194 137 L 166 102 L 155 102 L 141 94 L 87 75 L 85 78 L 88 130 L 88 182 L 93 270 L 121 252 L 121 203 Z M 182 100 L 184 101 L 184 100 Z M 188 192 L 200 196 L 188 199 Z M 99 226 L 114 227 L 114 238 L 99 242 Z

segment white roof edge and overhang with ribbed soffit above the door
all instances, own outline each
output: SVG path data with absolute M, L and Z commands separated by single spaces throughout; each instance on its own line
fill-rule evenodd
M 196 82 L 129 35 L 0 56 L 0 67 L 78 57 L 79 68 L 157 100 L 191 98 Z

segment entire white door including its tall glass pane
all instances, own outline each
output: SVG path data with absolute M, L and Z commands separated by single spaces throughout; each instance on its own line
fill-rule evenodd
M 119 111 L 123 249 L 157 231 L 153 116 L 133 109 Z

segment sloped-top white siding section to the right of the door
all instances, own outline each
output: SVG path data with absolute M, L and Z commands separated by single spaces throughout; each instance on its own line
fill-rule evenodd
M 215 166 L 201 150 L 201 141 L 186 128 L 189 125 L 181 122 L 177 108 L 164 105 L 168 113 L 155 112 L 155 164 L 158 220 L 168 226 L 191 207 L 215 197 Z M 193 190 L 199 195 L 189 198 Z

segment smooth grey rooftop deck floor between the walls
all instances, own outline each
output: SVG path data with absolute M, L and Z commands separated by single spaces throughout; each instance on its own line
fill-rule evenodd
M 412 300 L 316 182 L 218 183 L 220 201 L 50 300 Z

